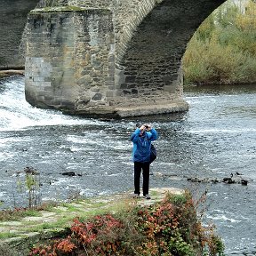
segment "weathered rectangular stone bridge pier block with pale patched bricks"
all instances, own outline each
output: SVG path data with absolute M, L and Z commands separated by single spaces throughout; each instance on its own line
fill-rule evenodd
M 29 14 L 25 91 L 30 104 L 61 109 L 75 109 L 78 103 L 79 108 L 106 104 L 105 82 L 114 79 L 108 63 L 113 30 L 109 14 L 106 10 Z M 101 88 L 104 84 L 106 88 Z

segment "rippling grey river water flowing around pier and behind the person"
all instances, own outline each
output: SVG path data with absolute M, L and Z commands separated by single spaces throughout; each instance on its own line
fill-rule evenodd
M 216 225 L 226 255 L 256 255 L 256 85 L 189 87 L 184 96 L 187 113 L 97 120 L 33 108 L 24 100 L 23 76 L 1 79 L 0 209 L 28 204 L 20 190 L 27 166 L 40 173 L 43 201 L 130 193 L 129 137 L 136 123 L 149 122 L 160 134 L 150 187 L 198 196 L 207 189 L 205 220 Z M 188 181 L 231 172 L 248 185 Z

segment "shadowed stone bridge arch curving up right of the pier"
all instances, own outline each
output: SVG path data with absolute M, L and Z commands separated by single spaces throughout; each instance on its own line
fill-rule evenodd
M 116 45 L 118 95 L 140 105 L 180 101 L 184 108 L 181 59 L 196 29 L 224 2 L 140 1 Z

